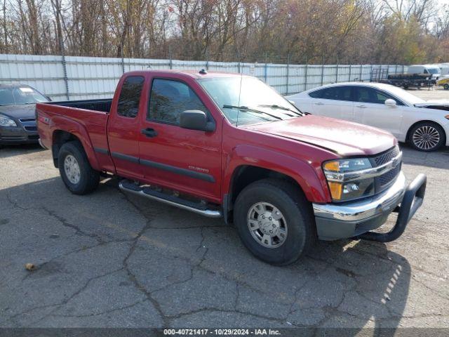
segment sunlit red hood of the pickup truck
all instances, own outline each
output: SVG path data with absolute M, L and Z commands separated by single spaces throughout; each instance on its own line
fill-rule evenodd
M 314 115 L 245 128 L 324 147 L 342 157 L 377 154 L 397 144 L 396 138 L 387 131 Z

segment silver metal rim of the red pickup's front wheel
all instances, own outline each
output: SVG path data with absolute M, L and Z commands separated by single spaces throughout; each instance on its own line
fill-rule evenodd
M 259 202 L 248 211 L 248 229 L 258 244 L 276 248 L 287 238 L 286 219 L 279 209 L 267 202 Z

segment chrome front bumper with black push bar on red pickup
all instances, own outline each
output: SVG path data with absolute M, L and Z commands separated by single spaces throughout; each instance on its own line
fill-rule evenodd
M 426 176 L 420 174 L 407 186 L 401 172 L 388 190 L 373 197 L 341 204 L 313 204 L 318 237 L 322 240 L 359 237 L 393 241 L 401 236 L 410 218 L 420 208 L 425 189 Z M 384 234 L 370 232 L 384 224 L 393 211 L 398 211 L 393 230 Z

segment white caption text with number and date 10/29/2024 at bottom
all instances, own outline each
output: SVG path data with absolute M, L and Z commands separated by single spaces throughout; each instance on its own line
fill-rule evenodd
M 163 329 L 166 336 L 276 336 L 281 332 L 275 329 Z

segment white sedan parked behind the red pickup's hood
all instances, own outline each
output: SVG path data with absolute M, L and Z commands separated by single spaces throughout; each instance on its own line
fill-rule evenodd
M 383 128 L 415 149 L 449 145 L 449 101 L 428 102 L 389 84 L 328 84 L 286 98 L 309 114 Z

